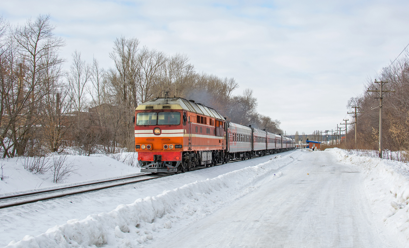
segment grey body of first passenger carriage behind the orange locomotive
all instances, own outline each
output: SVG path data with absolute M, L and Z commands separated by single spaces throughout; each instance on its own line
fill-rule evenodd
M 250 152 L 252 150 L 252 129 L 236 123 L 229 123 L 229 152 Z M 236 141 L 237 139 L 237 141 Z

